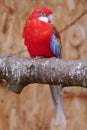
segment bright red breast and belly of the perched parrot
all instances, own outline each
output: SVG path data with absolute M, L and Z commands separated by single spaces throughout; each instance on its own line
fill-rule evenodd
M 24 27 L 23 37 L 31 57 L 53 57 L 50 49 L 52 25 L 39 20 L 31 20 Z

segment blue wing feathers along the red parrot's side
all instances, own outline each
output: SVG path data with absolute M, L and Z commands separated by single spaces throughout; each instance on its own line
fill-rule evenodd
M 58 38 L 54 34 L 52 35 L 52 39 L 50 42 L 50 48 L 56 57 L 58 57 L 60 59 L 62 58 L 61 45 L 60 45 Z

